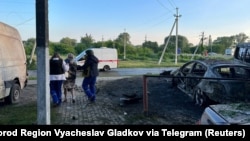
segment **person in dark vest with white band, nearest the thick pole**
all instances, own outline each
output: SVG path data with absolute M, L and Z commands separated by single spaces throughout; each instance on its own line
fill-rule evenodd
M 50 58 L 50 95 L 54 106 L 59 106 L 62 102 L 62 84 L 66 80 L 65 72 L 69 70 L 69 65 L 55 52 Z

